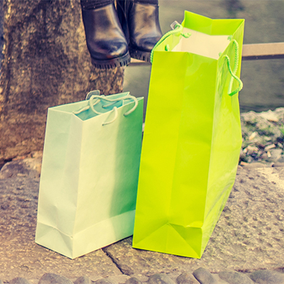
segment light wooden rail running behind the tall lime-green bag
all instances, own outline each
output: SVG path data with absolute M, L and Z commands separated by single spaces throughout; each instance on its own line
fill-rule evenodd
M 279 58 L 284 58 L 284 43 L 256 43 L 243 46 L 243 60 Z M 150 65 L 150 63 L 132 58 L 130 65 Z

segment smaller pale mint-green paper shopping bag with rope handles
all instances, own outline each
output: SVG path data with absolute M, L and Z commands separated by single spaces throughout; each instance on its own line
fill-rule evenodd
M 35 242 L 76 258 L 133 234 L 143 98 L 48 109 Z

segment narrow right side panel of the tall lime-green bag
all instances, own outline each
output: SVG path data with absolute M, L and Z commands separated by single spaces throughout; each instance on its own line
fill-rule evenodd
M 222 22 L 224 21 L 224 24 Z M 214 231 L 220 215 L 229 197 L 231 188 L 236 178 L 236 170 L 239 163 L 241 150 L 241 121 L 239 112 L 238 93 L 229 96 L 231 75 L 228 72 L 224 55 L 231 59 L 231 68 L 234 68 L 235 46 L 233 40 L 239 44 L 239 62 L 236 76 L 241 73 L 241 52 L 244 38 L 244 20 L 219 20 L 218 25 L 226 26 L 226 33 L 231 33 L 231 43 L 220 55 L 217 70 L 217 89 L 214 105 L 214 126 L 212 135 L 212 153 L 208 176 L 208 194 L 204 220 L 204 238 L 202 240 L 202 252 Z M 236 25 L 237 26 L 236 28 Z M 237 89 L 235 80 L 232 89 Z

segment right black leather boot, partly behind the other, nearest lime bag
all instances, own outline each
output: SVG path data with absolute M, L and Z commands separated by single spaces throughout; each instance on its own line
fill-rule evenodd
M 149 62 L 151 50 L 163 35 L 158 1 L 117 0 L 116 9 L 129 43 L 131 58 Z

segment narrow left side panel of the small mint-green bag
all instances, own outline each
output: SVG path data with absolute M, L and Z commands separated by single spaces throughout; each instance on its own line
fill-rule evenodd
M 76 137 L 70 134 L 73 131 L 77 131 Z M 76 148 L 70 146 L 74 138 L 78 143 Z M 75 223 L 79 173 L 75 173 L 75 163 L 72 163 L 73 168 L 66 168 L 66 160 L 80 160 L 78 149 L 81 139 L 80 119 L 56 108 L 48 109 L 45 131 L 45 141 L 48 143 L 45 143 L 43 151 L 35 242 L 70 258 L 73 249 L 70 236 Z M 66 178 L 68 171 L 73 173 L 72 178 Z M 64 207 L 61 200 L 65 200 Z M 56 241 L 50 242 L 50 239 Z

